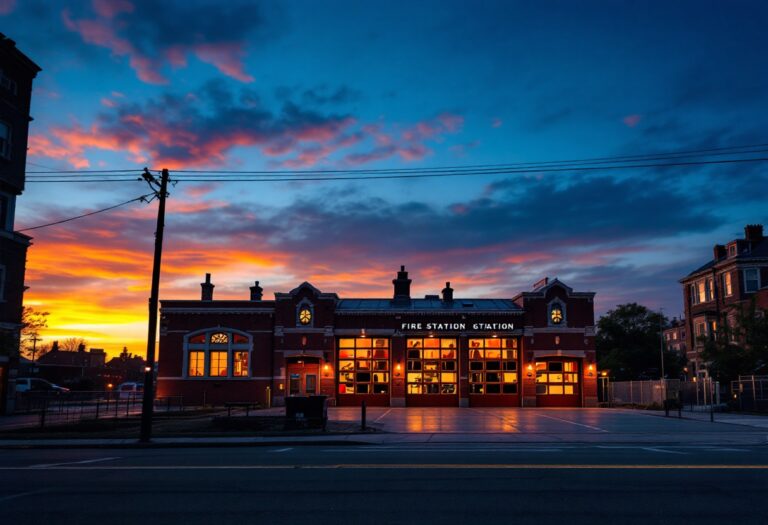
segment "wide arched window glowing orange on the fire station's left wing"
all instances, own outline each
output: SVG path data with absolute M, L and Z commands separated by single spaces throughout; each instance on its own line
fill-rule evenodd
M 184 340 L 186 377 L 248 377 L 250 335 L 234 329 L 215 328 L 188 334 Z

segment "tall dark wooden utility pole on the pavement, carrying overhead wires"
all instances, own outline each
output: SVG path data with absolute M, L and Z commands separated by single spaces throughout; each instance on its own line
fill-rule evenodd
M 155 257 L 152 262 L 152 290 L 149 295 L 149 329 L 147 333 L 147 362 L 144 367 L 144 400 L 141 405 L 141 431 L 139 441 L 148 443 L 152 438 L 152 410 L 155 401 L 155 337 L 157 336 L 158 294 L 160 288 L 160 260 L 163 255 L 163 227 L 165 226 L 165 198 L 168 196 L 168 170 L 164 169 L 160 182 L 144 168 L 142 178 L 149 184 L 159 201 L 157 229 L 155 230 Z

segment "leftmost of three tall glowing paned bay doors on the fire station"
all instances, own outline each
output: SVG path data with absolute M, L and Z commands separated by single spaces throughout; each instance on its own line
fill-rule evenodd
M 389 393 L 389 339 L 339 339 L 339 394 Z

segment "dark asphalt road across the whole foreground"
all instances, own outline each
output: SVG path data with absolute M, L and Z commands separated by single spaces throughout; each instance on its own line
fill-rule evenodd
M 766 523 L 768 446 L 0 450 L 3 523 Z

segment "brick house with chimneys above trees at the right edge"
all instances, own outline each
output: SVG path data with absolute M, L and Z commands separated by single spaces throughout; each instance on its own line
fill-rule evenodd
M 707 376 L 701 358 L 703 339 L 714 337 L 718 323 L 736 320 L 736 312 L 755 301 L 768 308 L 768 238 L 762 224 L 744 227 L 744 238 L 716 244 L 713 258 L 680 280 L 686 319 L 686 357 L 692 373 Z

